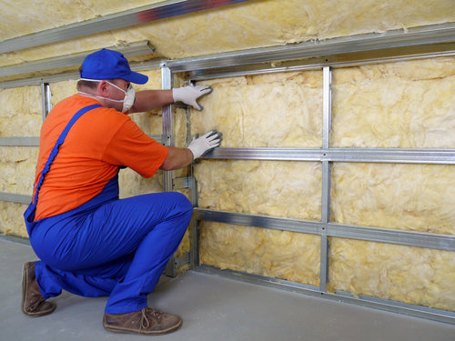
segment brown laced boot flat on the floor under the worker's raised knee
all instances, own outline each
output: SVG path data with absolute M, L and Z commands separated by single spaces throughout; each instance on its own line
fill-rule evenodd
M 163 335 L 182 326 L 180 317 L 144 308 L 135 313 L 105 314 L 103 326 L 109 332 L 149 336 Z

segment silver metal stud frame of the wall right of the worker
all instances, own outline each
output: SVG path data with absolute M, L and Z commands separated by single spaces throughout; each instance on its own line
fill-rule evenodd
M 447 26 L 446 26 L 447 27 Z M 452 27 L 453 28 L 453 27 Z M 452 29 L 450 28 L 450 29 Z M 446 36 L 447 37 L 447 36 Z M 419 34 L 413 35 L 415 41 L 422 42 L 422 36 Z M 255 276 L 247 273 L 241 273 L 232 270 L 220 270 L 212 266 L 204 266 L 199 264 L 198 259 L 198 234 L 197 229 L 193 231 L 193 248 L 192 253 L 194 259 L 191 262 L 192 268 L 196 271 L 213 274 L 217 276 L 226 276 L 238 280 L 255 283 L 262 286 L 273 286 L 284 290 L 299 292 L 302 294 L 320 296 L 332 300 L 352 303 L 359 306 L 369 306 L 398 312 L 410 316 L 420 316 L 430 318 L 437 321 L 455 324 L 455 314 L 438 309 L 431 309 L 422 306 L 413 306 L 379 299 L 376 297 L 359 296 L 355 298 L 349 293 L 337 292 L 336 294 L 328 294 L 326 286 L 329 275 L 329 236 L 337 236 L 343 238 L 359 239 L 371 242 L 389 243 L 404 246 L 419 246 L 435 248 L 440 250 L 455 251 L 455 236 L 444 236 L 429 233 L 419 233 L 412 231 L 400 231 L 395 229 L 385 229 L 370 226 L 348 226 L 330 223 L 329 207 L 330 207 L 330 165 L 332 162 L 373 162 L 373 163 L 404 163 L 404 164 L 455 164 L 455 150 L 453 149 L 368 149 L 368 148 L 330 148 L 329 133 L 331 121 L 331 70 L 332 65 L 363 65 L 378 62 L 386 62 L 389 60 L 414 59 L 421 57 L 435 57 L 440 55 L 455 55 L 454 38 L 450 37 L 450 42 L 444 45 L 444 52 L 440 50 L 435 53 L 435 50 L 440 49 L 440 39 L 435 39 L 433 45 L 419 45 L 416 47 L 406 46 L 399 54 L 399 47 L 379 51 L 380 58 L 366 57 L 366 53 L 351 54 L 347 51 L 340 54 L 340 51 L 335 49 L 338 54 L 319 55 L 313 60 L 311 58 L 303 61 L 286 61 L 289 58 L 286 53 L 275 55 L 276 60 L 284 60 L 278 67 L 264 63 L 271 59 L 268 52 L 264 55 L 256 55 L 252 57 L 249 54 L 238 55 L 238 58 L 233 54 L 218 55 L 216 57 L 207 56 L 186 61 L 170 61 L 168 66 L 171 70 L 187 71 L 190 81 L 238 76 L 238 75 L 255 75 L 272 72 L 284 72 L 291 70 L 303 69 L 320 69 L 323 70 L 323 141 L 322 148 L 217 148 L 210 155 L 206 155 L 207 159 L 242 159 L 242 160 L 288 160 L 288 161 L 313 161 L 322 163 L 322 212 L 321 221 L 303 221 L 297 219 L 286 219 L 271 216 L 258 216 L 248 214 L 238 214 L 222 211 L 207 210 L 197 208 L 195 203 L 195 214 L 193 216 L 197 221 L 212 221 L 226 224 L 235 224 L 243 226 L 258 226 L 264 228 L 274 228 L 284 231 L 294 231 L 319 235 L 321 241 L 320 247 L 320 285 L 305 286 L 298 283 L 278 280 L 275 278 Z M 359 41 L 357 41 L 359 43 Z M 352 41 L 345 44 L 345 47 L 352 45 Z M 343 49 L 345 48 L 343 47 Z M 390 46 L 389 46 L 390 47 Z M 292 47 L 289 47 L 292 48 Z M 369 47 L 370 48 L 370 47 Z M 320 51 L 319 48 L 315 48 Z M 314 52 L 314 51 L 313 51 Z M 333 51 L 332 51 L 333 52 Z M 367 51 L 369 54 L 374 54 L 378 51 Z M 312 53 L 312 52 L 308 52 Z M 343 55 L 344 54 L 344 55 Z M 291 54 L 292 56 L 293 53 Z M 336 55 L 336 57 L 335 57 Z M 279 56 L 279 57 L 278 57 Z M 341 58 L 343 57 L 343 58 Z M 339 58 L 339 59 L 337 59 Z M 338 61 L 334 62 L 337 59 Z M 341 63 L 339 60 L 343 59 Z M 325 60 L 326 63 L 321 61 Z M 242 65 L 242 61 L 244 64 Z M 330 63 L 331 62 L 331 63 Z M 223 65 L 224 64 L 224 65 Z M 200 68 L 200 69 L 197 69 Z M 195 186 L 196 182 L 193 182 Z M 197 191 L 196 186 L 194 191 Z M 197 223 L 194 223 L 198 226 Z

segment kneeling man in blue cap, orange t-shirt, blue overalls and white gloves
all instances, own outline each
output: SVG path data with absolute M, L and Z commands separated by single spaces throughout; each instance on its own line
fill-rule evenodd
M 207 86 L 135 91 L 148 77 L 126 58 L 102 49 L 87 55 L 78 94 L 58 103 L 41 129 L 32 204 L 25 211 L 30 242 L 40 261 L 23 270 L 21 309 L 51 314 L 49 297 L 62 289 L 79 296 L 109 296 L 103 326 L 116 333 L 161 335 L 177 330 L 178 316 L 147 307 L 168 259 L 176 252 L 193 206 L 179 193 L 119 200 L 118 170 L 144 177 L 173 170 L 220 145 L 216 131 L 187 148 L 148 137 L 126 114 L 182 101 L 201 110 Z

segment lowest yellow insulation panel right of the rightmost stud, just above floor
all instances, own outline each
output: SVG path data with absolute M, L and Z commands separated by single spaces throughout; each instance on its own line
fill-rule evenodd
M 455 253 L 329 238 L 329 286 L 455 311 Z

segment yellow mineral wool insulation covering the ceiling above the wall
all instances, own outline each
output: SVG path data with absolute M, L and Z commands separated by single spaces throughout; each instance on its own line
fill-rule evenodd
M 1 4 L 5 7 L 0 25 L 5 28 L 0 29 L 3 40 L 130 9 L 143 2 L 117 1 L 111 5 L 108 0 L 42 0 L 7 5 L 3 0 Z M 49 15 L 36 7 L 48 7 Z M 0 55 L 0 63 L 12 65 L 63 55 L 62 51 L 72 54 L 140 40 L 149 40 L 157 55 L 177 59 L 450 22 L 455 22 L 455 3 L 451 0 L 249 1 L 6 53 Z

